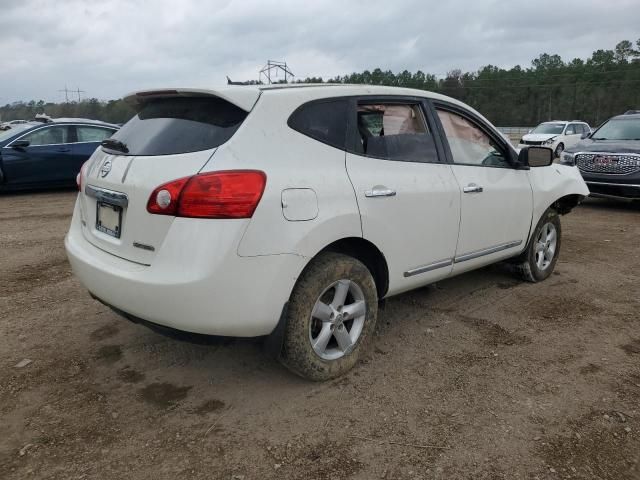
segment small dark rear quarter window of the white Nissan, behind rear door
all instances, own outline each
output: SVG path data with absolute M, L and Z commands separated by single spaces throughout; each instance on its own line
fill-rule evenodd
M 287 123 L 308 137 L 344 150 L 347 108 L 347 99 L 314 101 L 299 107 Z

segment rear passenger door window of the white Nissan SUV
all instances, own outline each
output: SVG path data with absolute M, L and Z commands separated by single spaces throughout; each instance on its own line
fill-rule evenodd
M 438 161 L 420 105 L 361 103 L 357 122 L 356 153 L 404 162 Z

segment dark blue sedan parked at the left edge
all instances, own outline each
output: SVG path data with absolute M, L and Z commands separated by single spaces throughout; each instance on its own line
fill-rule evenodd
M 74 119 L 13 125 L 0 132 L 0 190 L 75 185 L 82 164 L 117 130 Z

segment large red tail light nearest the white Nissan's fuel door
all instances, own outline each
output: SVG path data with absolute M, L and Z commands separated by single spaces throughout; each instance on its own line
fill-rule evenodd
M 251 218 L 267 176 L 259 170 L 227 170 L 179 178 L 156 188 L 147 211 L 193 218 Z

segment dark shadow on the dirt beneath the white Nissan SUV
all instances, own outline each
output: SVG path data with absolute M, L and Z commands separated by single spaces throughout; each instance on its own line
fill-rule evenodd
M 376 333 L 367 351 L 362 352 L 363 365 L 375 358 L 373 352 L 378 343 L 394 341 L 400 332 L 419 330 L 420 327 L 416 326 L 415 320 L 417 316 L 424 316 L 426 313 L 454 315 L 458 310 L 456 305 L 463 298 L 481 294 L 482 291 L 492 288 L 510 289 L 521 283 L 522 281 L 514 276 L 510 265 L 498 263 L 382 301 L 379 306 Z M 122 321 L 126 320 L 122 319 Z M 146 334 L 138 330 L 146 339 L 145 343 L 161 345 L 161 348 L 155 352 L 159 356 L 159 365 L 165 367 L 179 365 L 182 369 L 180 376 L 185 380 L 191 379 L 194 384 L 199 383 L 198 379 L 201 381 L 203 377 L 211 377 L 217 379 L 216 383 L 220 388 L 236 383 L 238 378 L 244 378 L 243 383 L 247 388 L 252 384 L 260 385 L 267 378 L 281 387 L 298 388 L 304 385 L 308 387 L 317 385 L 315 382 L 309 382 L 292 374 L 280 365 L 273 346 L 267 343 L 267 337 L 235 338 L 200 335 L 139 320 L 131 321 L 130 325 L 135 325 L 133 327 L 135 329 L 147 329 Z M 152 350 L 154 348 L 151 347 Z M 139 363 L 144 364 L 145 361 Z M 153 376 L 164 378 L 175 374 L 175 371 L 169 373 L 159 365 L 153 369 Z M 368 367 L 363 367 L 355 371 L 359 371 L 359 375 L 368 370 Z M 345 378 L 351 378 L 352 375 L 353 372 L 347 374 Z M 326 388 L 330 388 L 334 382 L 339 380 L 327 382 Z

